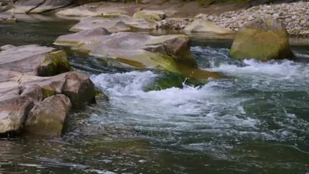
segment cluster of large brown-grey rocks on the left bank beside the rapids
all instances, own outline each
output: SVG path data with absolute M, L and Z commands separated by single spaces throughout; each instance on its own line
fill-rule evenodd
M 71 70 L 64 51 L 0 47 L 0 135 L 59 135 L 71 107 L 95 101 L 94 83 Z

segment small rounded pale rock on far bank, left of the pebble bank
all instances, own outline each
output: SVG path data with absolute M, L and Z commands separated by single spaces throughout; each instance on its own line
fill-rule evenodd
M 141 10 L 136 12 L 133 17 L 150 21 L 160 21 L 166 18 L 166 14 L 162 10 Z

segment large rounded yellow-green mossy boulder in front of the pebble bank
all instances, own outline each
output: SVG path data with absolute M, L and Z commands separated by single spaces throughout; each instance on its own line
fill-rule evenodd
M 250 21 L 240 28 L 230 54 L 239 60 L 253 58 L 267 61 L 294 57 L 285 25 L 269 18 Z

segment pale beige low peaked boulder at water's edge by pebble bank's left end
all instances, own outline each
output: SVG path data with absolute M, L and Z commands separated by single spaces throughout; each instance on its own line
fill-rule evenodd
M 194 20 L 189 25 L 187 25 L 183 29 L 183 31 L 185 33 L 200 33 L 209 36 L 222 36 L 222 35 L 235 34 L 235 32 L 230 30 L 229 28 L 220 27 L 215 23 L 204 19 Z

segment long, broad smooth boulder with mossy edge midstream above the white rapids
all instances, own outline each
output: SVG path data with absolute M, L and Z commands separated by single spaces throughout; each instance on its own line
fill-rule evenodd
M 150 36 L 128 32 L 105 35 L 102 30 L 96 28 L 60 36 L 54 44 L 73 46 L 73 49 L 87 51 L 90 55 L 98 57 L 99 62 L 105 65 L 167 70 L 184 73 L 193 78 L 195 74 L 203 79 L 219 77 L 217 73 L 204 73 L 197 69 L 196 62 L 191 56 L 191 44 L 187 36 Z M 104 35 L 101 35 L 102 33 Z

